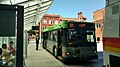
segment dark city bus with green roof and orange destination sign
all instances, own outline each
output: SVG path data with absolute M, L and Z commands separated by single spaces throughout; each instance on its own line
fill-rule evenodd
M 43 48 L 63 62 L 98 58 L 94 23 L 62 21 L 42 34 Z

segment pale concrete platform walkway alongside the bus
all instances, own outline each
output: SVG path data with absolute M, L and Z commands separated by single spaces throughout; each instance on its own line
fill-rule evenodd
M 26 67 L 64 67 L 63 63 L 55 59 L 52 54 L 43 49 L 39 44 L 36 50 L 35 42 L 28 44 L 28 56 L 25 59 Z

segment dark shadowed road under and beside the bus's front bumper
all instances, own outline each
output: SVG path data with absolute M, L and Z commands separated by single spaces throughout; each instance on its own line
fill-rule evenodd
M 62 61 L 61 61 L 62 62 Z M 80 66 L 90 66 L 90 67 L 102 67 L 103 65 L 103 52 L 98 52 L 98 59 L 88 60 L 88 61 L 68 61 L 64 63 L 67 66 L 80 65 Z

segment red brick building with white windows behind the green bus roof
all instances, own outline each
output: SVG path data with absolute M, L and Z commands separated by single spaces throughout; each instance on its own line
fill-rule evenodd
M 54 14 L 45 14 L 43 18 L 41 19 L 40 23 L 40 30 L 43 30 L 44 28 L 47 28 L 49 26 L 53 26 L 55 24 L 59 24 L 63 20 L 68 20 L 68 21 L 82 21 L 85 22 L 87 18 L 85 18 L 82 15 L 82 12 L 78 13 L 77 18 L 64 18 L 61 17 L 60 15 L 54 15 Z

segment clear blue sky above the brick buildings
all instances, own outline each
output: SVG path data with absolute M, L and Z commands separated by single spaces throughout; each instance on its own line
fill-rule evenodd
M 93 21 L 93 12 L 105 7 L 105 0 L 54 0 L 46 14 L 77 18 L 82 12 L 87 21 Z

